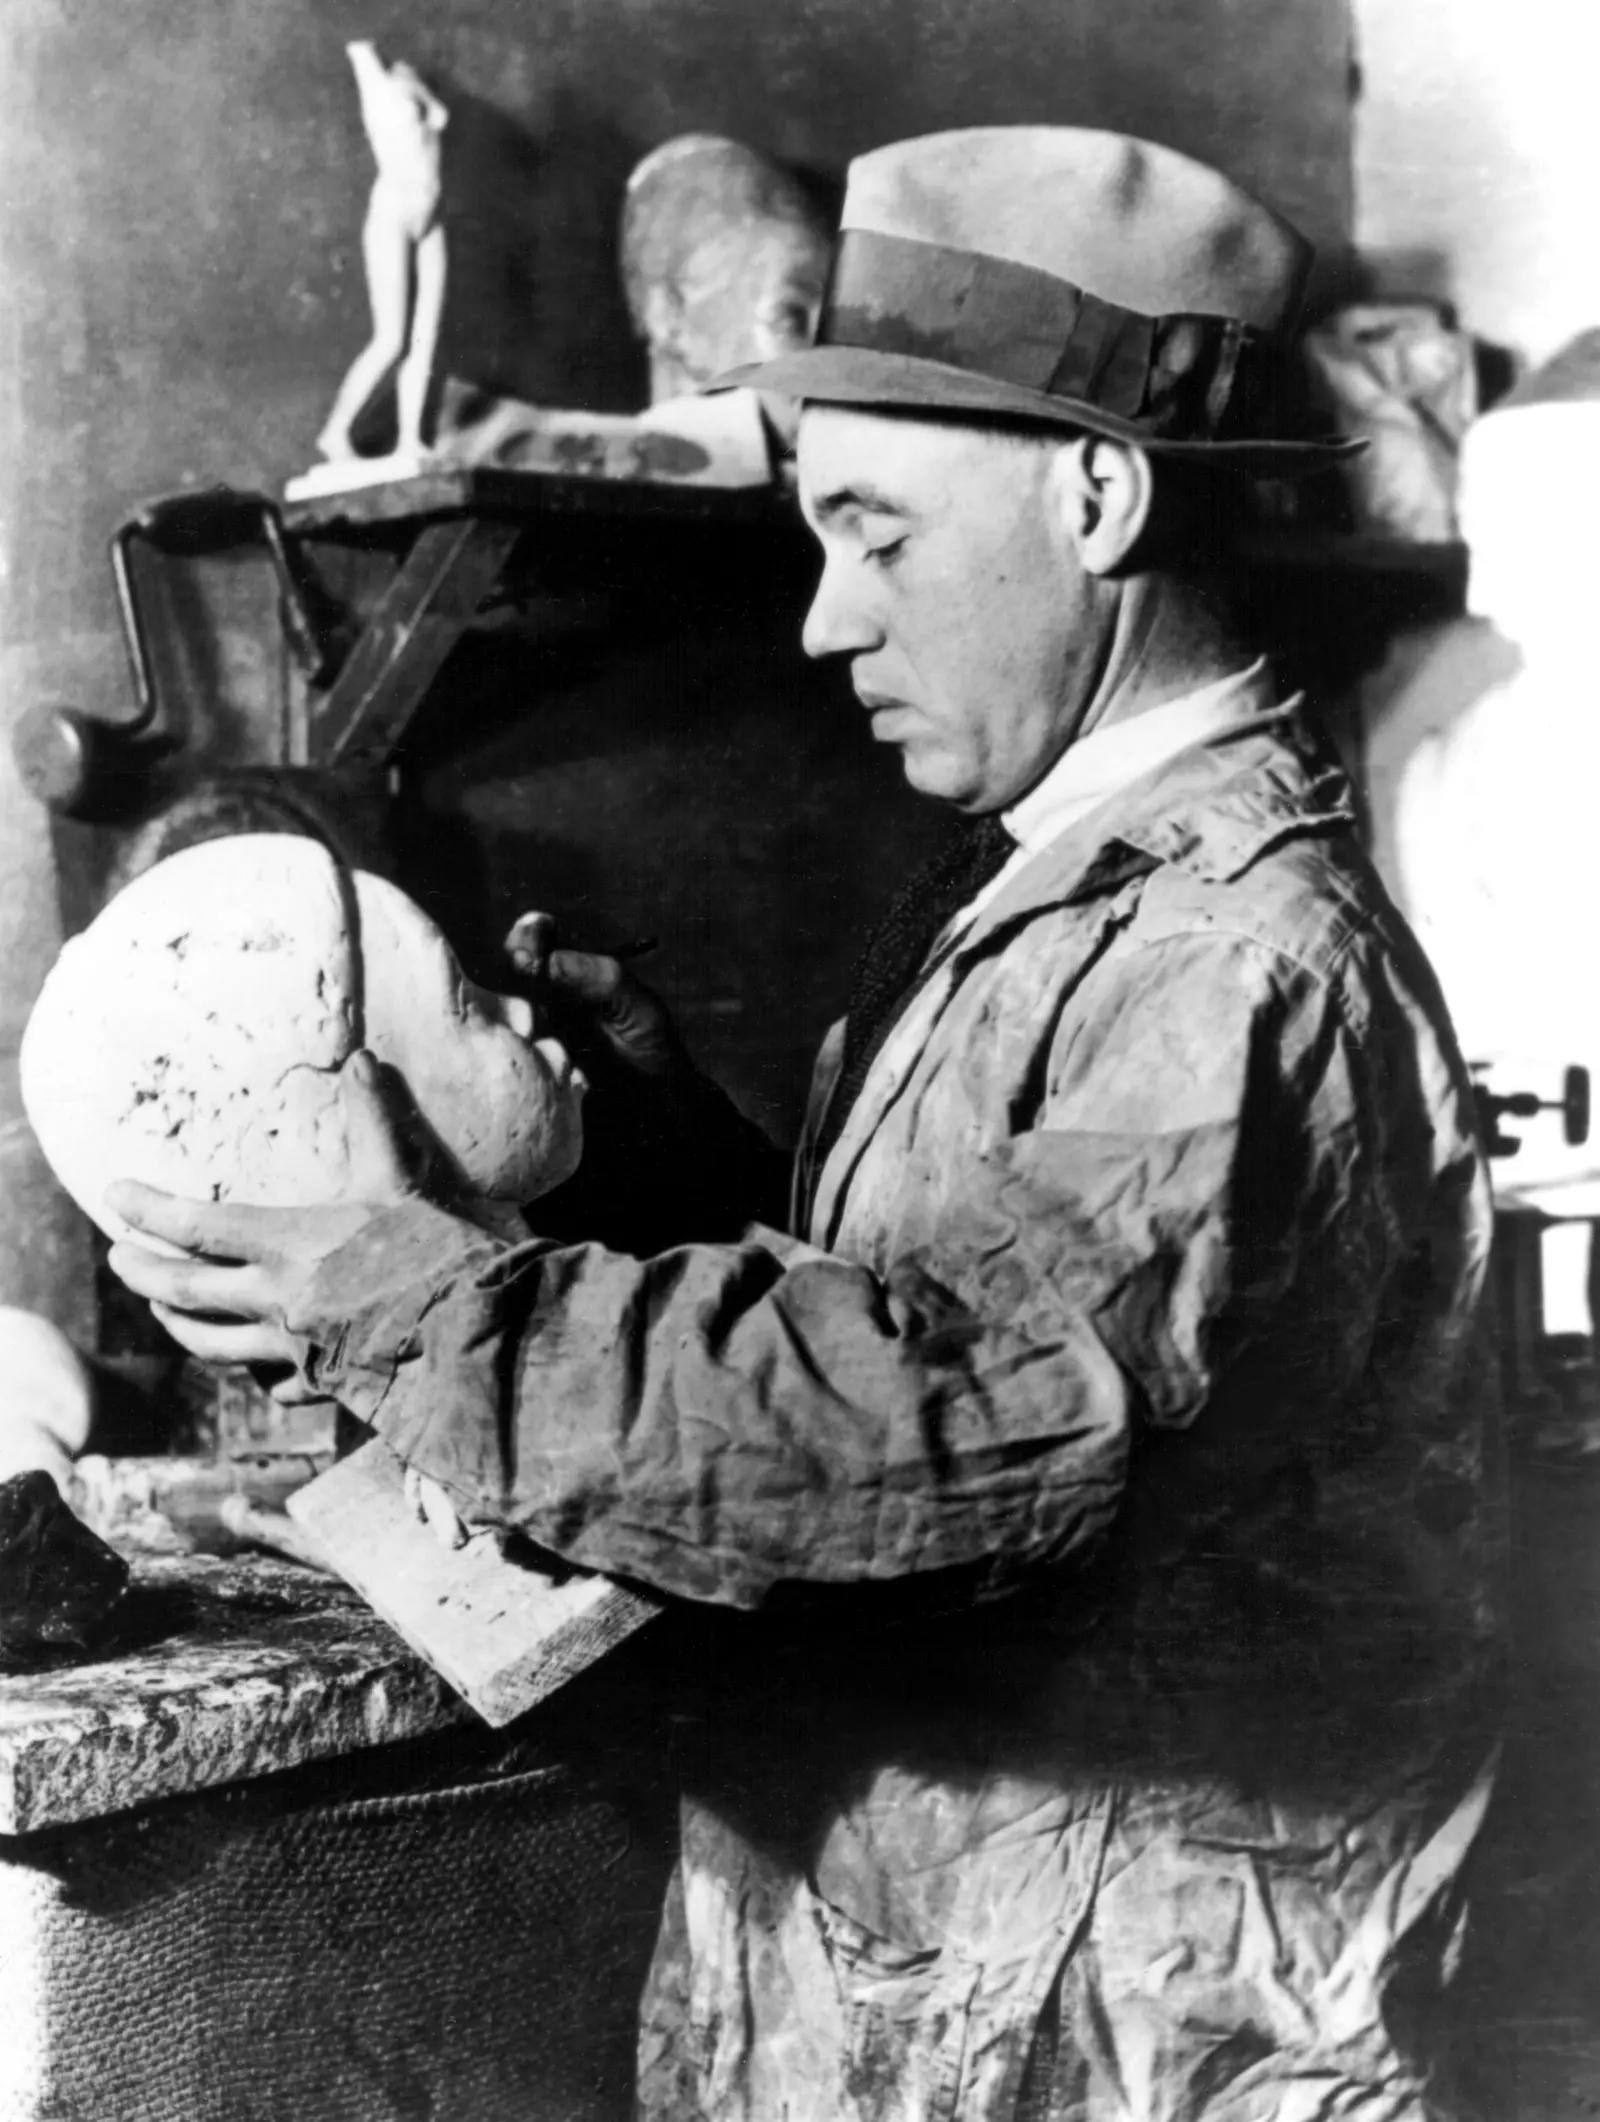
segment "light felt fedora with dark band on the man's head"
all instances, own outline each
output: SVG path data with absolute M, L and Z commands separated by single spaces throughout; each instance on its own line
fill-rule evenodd
M 1248 191 L 1148 140 L 929 134 L 851 163 L 815 342 L 711 388 L 1305 471 L 1352 450 L 1284 433 L 1309 265 L 1307 240 Z

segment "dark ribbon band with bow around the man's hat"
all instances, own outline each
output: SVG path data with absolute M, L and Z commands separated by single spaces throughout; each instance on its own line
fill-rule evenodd
M 1258 433 L 1273 342 L 1235 316 L 1144 316 L 1033 265 L 845 229 L 817 346 L 908 354 L 1137 422 L 1161 441 Z

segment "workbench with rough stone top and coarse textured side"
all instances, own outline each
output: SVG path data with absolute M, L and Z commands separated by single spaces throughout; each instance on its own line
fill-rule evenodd
M 620 2122 L 615 1715 L 490 1734 L 314 1570 L 129 1560 L 117 1655 L 0 1679 L 0 2122 Z

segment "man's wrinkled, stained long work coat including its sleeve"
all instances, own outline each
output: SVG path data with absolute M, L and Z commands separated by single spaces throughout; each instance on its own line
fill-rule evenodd
M 1299 715 L 1042 851 L 798 1171 L 802 1237 L 643 1260 L 395 1210 L 299 1322 L 471 1513 L 762 1615 L 643 2114 L 1432 2114 L 1490 1197 Z

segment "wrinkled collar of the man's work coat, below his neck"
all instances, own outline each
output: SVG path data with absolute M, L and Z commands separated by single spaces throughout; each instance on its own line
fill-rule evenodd
M 1280 840 L 1352 830 L 1350 781 L 1303 709 L 1294 694 L 1118 789 L 1019 870 L 961 953 L 1016 915 L 1097 898 L 1161 866 L 1227 883 Z

